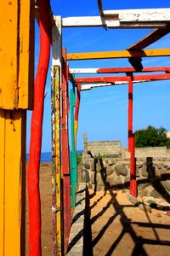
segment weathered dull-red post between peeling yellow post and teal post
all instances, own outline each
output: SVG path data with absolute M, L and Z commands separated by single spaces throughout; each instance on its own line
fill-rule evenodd
M 64 201 L 64 240 L 65 253 L 71 231 L 71 183 L 70 183 L 70 149 L 68 137 L 68 78 L 69 67 L 66 62 L 66 52 L 63 49 L 63 83 L 61 84 L 61 172 L 63 176 L 63 201 Z

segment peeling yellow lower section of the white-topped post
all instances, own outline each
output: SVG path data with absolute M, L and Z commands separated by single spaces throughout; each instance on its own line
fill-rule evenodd
M 54 254 L 61 255 L 62 236 L 61 236 L 61 173 L 60 173 L 60 69 L 58 65 L 52 67 L 52 150 L 53 150 L 53 197 L 55 197 L 55 225 L 56 226 L 56 241 L 54 242 Z M 55 195 L 54 195 L 55 194 Z M 54 219 L 54 218 L 53 218 Z

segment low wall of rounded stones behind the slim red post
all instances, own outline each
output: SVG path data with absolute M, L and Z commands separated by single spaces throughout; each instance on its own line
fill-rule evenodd
M 137 157 L 136 177 L 138 194 L 164 197 L 170 195 L 170 158 L 165 156 Z M 82 179 L 94 190 L 128 188 L 130 181 L 129 157 L 93 157 L 82 154 Z

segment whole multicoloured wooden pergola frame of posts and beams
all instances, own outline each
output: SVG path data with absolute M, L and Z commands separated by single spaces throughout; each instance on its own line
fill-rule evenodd
M 25 250 L 26 110 L 33 109 L 28 166 L 29 255 L 41 255 L 41 203 L 39 164 L 42 143 L 44 88 L 52 45 L 52 215 L 53 255 L 64 255 L 71 230 L 71 205 L 75 206 L 77 186 L 76 136 L 82 90 L 94 86 L 128 84 L 128 148 L 131 153 L 130 192 L 136 196 L 133 137 L 133 83 L 170 79 L 170 67 L 142 66 L 142 58 L 170 56 L 170 49 L 144 49 L 170 32 L 170 9 L 103 10 L 99 16 L 54 16 L 48 0 L 36 3 L 40 26 L 40 56 L 34 83 L 34 1 L 2 0 L 0 21 L 0 254 L 21 255 Z M 37 1 L 36 1 L 37 2 Z M 105 29 L 153 28 L 153 32 L 125 50 L 66 53 L 62 45 L 65 27 Z M 13 44 L 8 40 L 13 38 Z M 22 43 L 22 44 L 21 44 Z M 132 68 L 69 69 L 68 61 L 127 58 Z M 7 73 L 8 70 L 8 73 Z M 133 73 L 146 73 L 133 75 Z M 150 73 L 151 74 L 148 74 Z M 152 74 L 156 72 L 156 74 Z M 157 74 L 157 72 L 162 72 Z M 125 73 L 122 77 L 76 78 L 76 73 Z M 73 84 L 70 94 L 68 83 Z M 77 88 L 77 89 L 76 89 Z M 75 92 L 77 90 L 77 104 Z M 71 167 L 68 141 L 68 113 L 71 108 Z M 76 111 L 74 108 L 76 105 Z M 74 120 L 75 118 L 75 120 Z M 14 145 L 11 146 L 11 141 Z M 15 146 L 15 147 L 14 147 Z M 13 170 L 13 172 L 10 172 Z M 62 182 L 61 182 L 62 181 Z M 70 189 L 71 186 L 71 189 Z M 64 226 L 64 230 L 63 230 Z

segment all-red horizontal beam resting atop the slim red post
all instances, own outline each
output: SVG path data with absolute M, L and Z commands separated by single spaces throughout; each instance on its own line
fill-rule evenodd
M 115 82 L 125 82 L 128 81 L 128 76 L 123 77 L 96 77 L 96 78 L 77 78 L 75 82 L 77 84 L 88 84 L 88 83 L 115 83 Z M 170 79 L 170 74 L 155 74 L 155 75 L 138 75 L 133 76 L 133 81 L 158 81 Z

